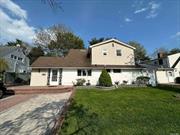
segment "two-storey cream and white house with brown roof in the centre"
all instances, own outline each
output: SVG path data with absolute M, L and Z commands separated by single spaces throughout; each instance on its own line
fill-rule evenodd
M 126 43 L 110 39 L 89 49 L 71 49 L 66 57 L 39 57 L 31 65 L 30 85 L 73 85 L 80 78 L 97 85 L 104 68 L 113 84 L 116 81 L 132 84 L 138 76 L 149 76 L 145 68 L 135 64 L 134 50 Z

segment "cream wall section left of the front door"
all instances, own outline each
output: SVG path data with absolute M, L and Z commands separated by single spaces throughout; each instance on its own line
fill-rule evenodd
M 48 78 L 47 69 L 33 69 L 31 72 L 30 86 L 46 86 Z

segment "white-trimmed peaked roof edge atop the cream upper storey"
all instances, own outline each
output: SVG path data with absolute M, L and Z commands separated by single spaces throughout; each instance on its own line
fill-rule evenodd
M 121 42 L 121 41 L 119 41 L 117 39 L 114 39 L 114 38 L 103 41 L 103 42 L 100 42 L 100 43 L 97 43 L 97 44 L 93 44 L 93 45 L 90 46 L 90 48 L 93 48 L 93 47 L 99 46 L 99 45 L 103 45 L 103 44 L 106 44 L 106 43 L 109 43 L 109 42 L 116 42 L 116 43 L 124 45 L 124 46 L 126 46 L 128 48 L 131 48 L 131 49 L 134 49 L 134 50 L 136 49 L 135 47 L 133 47 L 131 45 L 128 45 L 127 43 Z

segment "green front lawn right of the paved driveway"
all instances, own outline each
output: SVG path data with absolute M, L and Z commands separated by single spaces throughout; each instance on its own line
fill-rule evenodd
M 157 88 L 77 90 L 60 134 L 180 135 L 174 94 Z

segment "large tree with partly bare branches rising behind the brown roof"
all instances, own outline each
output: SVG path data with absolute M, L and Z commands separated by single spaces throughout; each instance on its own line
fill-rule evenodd
M 84 48 L 83 40 L 80 37 L 76 36 L 70 28 L 59 24 L 37 30 L 34 41 L 46 54 L 51 56 L 65 56 L 72 48 Z

